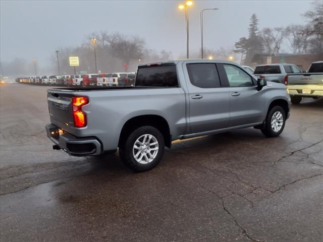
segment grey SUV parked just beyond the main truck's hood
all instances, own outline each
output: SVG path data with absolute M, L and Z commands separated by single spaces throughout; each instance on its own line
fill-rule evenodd
M 256 78 L 265 79 L 267 82 L 284 83 L 288 74 L 302 73 L 302 71 L 293 64 L 270 64 L 259 65 L 254 70 Z

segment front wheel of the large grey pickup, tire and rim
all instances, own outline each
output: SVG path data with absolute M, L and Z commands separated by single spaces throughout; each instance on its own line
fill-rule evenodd
M 285 127 L 286 115 L 281 106 L 275 106 L 268 111 L 265 126 L 261 129 L 262 134 L 267 137 L 279 136 Z

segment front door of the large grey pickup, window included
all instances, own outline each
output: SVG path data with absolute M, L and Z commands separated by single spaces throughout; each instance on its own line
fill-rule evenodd
M 218 64 L 224 69 L 223 82 L 229 83 L 230 122 L 229 127 L 256 124 L 263 121 L 264 91 L 257 90 L 254 78 L 240 67 L 231 64 Z

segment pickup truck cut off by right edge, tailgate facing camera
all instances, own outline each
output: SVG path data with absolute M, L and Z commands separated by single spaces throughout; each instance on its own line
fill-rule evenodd
M 303 97 L 323 97 L 323 61 L 313 62 L 307 73 L 287 75 L 284 82 L 293 104 L 299 104 Z

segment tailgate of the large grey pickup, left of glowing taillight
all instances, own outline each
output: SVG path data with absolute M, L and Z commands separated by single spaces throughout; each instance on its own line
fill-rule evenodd
M 68 130 L 74 127 L 72 95 L 47 91 L 48 111 L 50 122 L 61 129 Z

